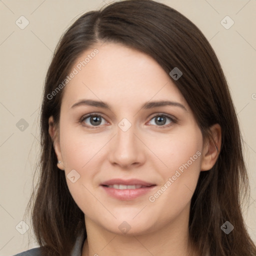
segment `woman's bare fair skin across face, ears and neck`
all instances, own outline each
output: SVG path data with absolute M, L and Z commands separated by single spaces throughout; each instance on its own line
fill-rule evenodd
M 196 255 L 188 243 L 190 200 L 200 171 L 209 170 L 218 157 L 216 146 L 203 140 L 186 100 L 153 58 L 121 44 L 94 46 L 98 54 L 64 88 L 59 124 L 52 116 L 49 118 L 49 134 L 61 161 L 57 166 L 66 175 L 72 169 L 80 175 L 74 183 L 66 180 L 84 212 L 88 238 L 82 256 L 181 256 L 188 251 Z M 83 52 L 75 63 L 93 48 Z M 88 105 L 72 107 L 85 98 L 102 100 L 111 110 Z M 185 109 L 174 105 L 141 108 L 145 102 L 158 100 L 175 101 Z M 80 122 L 89 113 L 103 117 L 98 121 L 100 125 L 90 122 L 89 117 Z M 161 114 L 177 121 L 166 117 L 160 125 L 156 118 Z M 123 118 L 131 124 L 127 131 L 118 126 Z M 210 130 L 220 148 L 220 126 L 215 124 Z M 196 152 L 200 156 L 150 202 L 148 197 Z M 118 200 L 109 197 L 99 185 L 117 177 L 138 178 L 156 186 L 149 194 Z M 130 226 L 126 234 L 118 228 L 123 221 Z

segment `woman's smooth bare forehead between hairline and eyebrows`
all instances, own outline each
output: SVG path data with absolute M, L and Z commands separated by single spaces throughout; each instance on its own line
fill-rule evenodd
M 71 70 L 76 74 L 65 86 L 62 98 L 62 104 L 68 107 L 83 97 L 116 106 L 131 107 L 151 98 L 187 105 L 170 76 L 152 57 L 122 44 L 94 45 L 76 59 Z

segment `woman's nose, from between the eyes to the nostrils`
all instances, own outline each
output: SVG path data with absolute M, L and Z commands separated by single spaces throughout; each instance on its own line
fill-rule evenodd
M 145 145 L 141 142 L 135 125 L 123 131 L 116 127 L 116 135 L 111 139 L 108 159 L 113 165 L 130 169 L 142 165 L 145 161 Z

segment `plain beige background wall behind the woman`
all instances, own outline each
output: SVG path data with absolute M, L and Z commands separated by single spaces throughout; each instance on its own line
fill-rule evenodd
M 256 242 L 256 0 L 159 1 L 194 22 L 210 40 L 221 62 L 244 138 L 251 197 L 248 211 L 243 214 Z M 28 245 L 28 231 L 20 234 L 15 227 L 23 220 L 32 188 L 39 152 L 39 106 L 52 52 L 60 35 L 79 15 L 107 2 L 0 0 L 0 256 L 37 246 L 33 239 Z M 29 21 L 24 29 L 15 24 L 21 15 Z M 234 21 L 229 29 L 220 23 L 226 15 Z M 21 118 L 28 124 L 23 131 L 20 124 L 16 126 Z M 25 222 L 31 231 L 29 220 Z

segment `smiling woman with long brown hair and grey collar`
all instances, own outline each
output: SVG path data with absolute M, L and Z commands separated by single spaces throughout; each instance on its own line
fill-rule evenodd
M 128 0 L 79 17 L 46 75 L 41 145 L 31 255 L 256 255 L 227 83 L 176 10 Z

